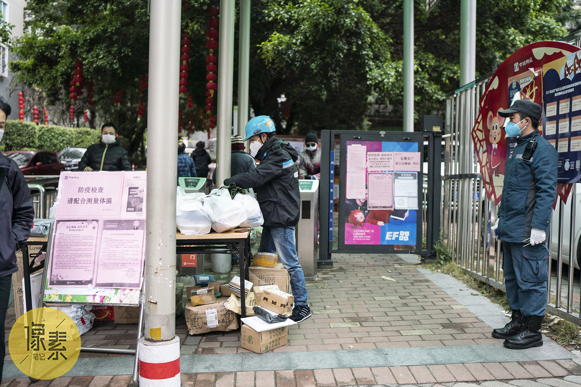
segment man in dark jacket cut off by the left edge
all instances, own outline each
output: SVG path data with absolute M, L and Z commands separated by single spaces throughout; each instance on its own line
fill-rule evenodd
M 10 114 L 10 105 L 0 99 L 0 143 Z M 4 359 L 4 321 L 12 283 L 18 271 L 16 250 L 26 246 L 33 225 L 34 207 L 28 184 L 16 162 L 0 154 L 0 359 Z M 2 379 L 0 364 L 0 380 Z

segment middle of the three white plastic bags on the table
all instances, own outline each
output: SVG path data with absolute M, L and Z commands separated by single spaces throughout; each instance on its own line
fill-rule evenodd
M 225 190 L 228 192 L 228 190 Z M 204 198 L 203 210 L 212 221 L 212 228 L 223 233 L 238 227 L 246 221 L 246 210 L 237 201 L 228 196 L 208 195 Z

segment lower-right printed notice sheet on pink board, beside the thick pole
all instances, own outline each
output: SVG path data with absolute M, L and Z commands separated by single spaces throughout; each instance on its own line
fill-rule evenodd
M 103 220 L 96 287 L 141 287 L 145 220 Z

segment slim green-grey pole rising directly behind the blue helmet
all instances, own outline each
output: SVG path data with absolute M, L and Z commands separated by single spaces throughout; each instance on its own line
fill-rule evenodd
M 240 27 L 238 34 L 240 35 L 238 41 L 238 135 L 244 138 L 244 128 L 248 122 L 250 0 L 240 0 Z

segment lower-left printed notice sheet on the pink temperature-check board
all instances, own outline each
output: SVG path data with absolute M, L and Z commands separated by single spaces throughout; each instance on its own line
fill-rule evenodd
M 98 220 L 56 220 L 49 287 L 85 287 L 95 266 Z

